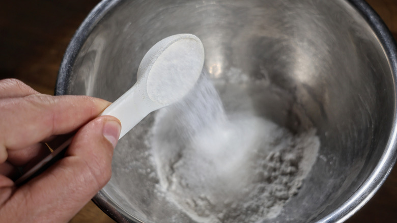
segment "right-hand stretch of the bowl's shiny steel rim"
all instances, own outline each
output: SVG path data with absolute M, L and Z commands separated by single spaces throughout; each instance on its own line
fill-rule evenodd
M 386 52 L 389 60 L 390 69 L 393 77 L 394 87 L 394 105 L 397 103 L 396 99 L 396 75 L 397 75 L 397 48 L 396 42 L 390 30 L 380 18 L 378 13 L 368 5 L 364 0 L 346 0 L 353 6 L 366 22 L 371 26 L 376 34 L 383 50 Z M 394 116 L 391 126 L 391 132 L 386 144 L 386 149 L 383 152 L 375 169 L 362 183 L 358 190 L 356 190 L 347 201 L 334 211 L 323 217 L 317 222 L 343 222 L 356 213 L 362 206 L 364 206 L 379 190 L 386 178 L 389 176 L 397 158 L 397 114 L 394 106 Z

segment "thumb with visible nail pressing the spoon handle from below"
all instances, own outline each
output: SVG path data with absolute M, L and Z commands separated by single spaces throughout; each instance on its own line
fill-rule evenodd
M 16 208 L 24 213 L 18 214 L 21 219 L 15 222 L 67 222 L 110 179 L 120 130 L 120 122 L 110 116 L 84 125 L 74 136 L 66 157 L 18 188 L 0 209 L 0 215 Z

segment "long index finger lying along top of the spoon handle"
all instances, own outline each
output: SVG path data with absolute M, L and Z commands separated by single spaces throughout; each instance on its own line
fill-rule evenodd
M 88 96 L 33 94 L 0 100 L 0 163 L 51 135 L 64 134 L 97 117 L 110 103 Z

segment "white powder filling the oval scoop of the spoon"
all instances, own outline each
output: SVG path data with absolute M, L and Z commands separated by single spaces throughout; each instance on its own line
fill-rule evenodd
M 193 37 L 177 40 L 156 59 L 146 82 L 151 100 L 171 104 L 192 89 L 204 63 L 203 45 L 200 39 Z

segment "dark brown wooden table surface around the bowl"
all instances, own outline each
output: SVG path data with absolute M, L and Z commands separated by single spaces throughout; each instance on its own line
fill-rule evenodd
M 0 78 L 21 79 L 53 94 L 66 47 L 98 0 L 2 1 L 0 3 Z M 368 0 L 397 37 L 397 0 Z M 54 207 L 56 208 L 56 207 Z M 114 222 L 92 202 L 71 222 Z M 397 168 L 360 211 L 347 222 L 397 222 Z

